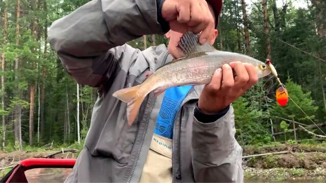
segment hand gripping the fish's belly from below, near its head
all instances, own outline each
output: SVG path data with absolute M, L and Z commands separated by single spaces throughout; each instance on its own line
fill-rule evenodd
M 236 76 L 233 76 L 234 69 Z M 206 114 L 218 113 L 247 92 L 258 81 L 255 67 L 233 62 L 214 72 L 198 101 L 198 108 Z

